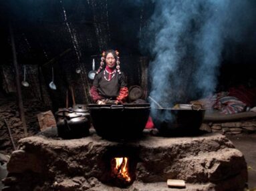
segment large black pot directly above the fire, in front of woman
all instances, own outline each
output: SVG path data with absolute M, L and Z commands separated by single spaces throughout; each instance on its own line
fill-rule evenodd
M 110 139 L 132 139 L 142 134 L 150 104 L 89 104 L 98 135 Z

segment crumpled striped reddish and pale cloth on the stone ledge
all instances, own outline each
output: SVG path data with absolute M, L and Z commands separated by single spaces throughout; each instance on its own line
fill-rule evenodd
M 221 110 L 223 114 L 234 114 L 243 112 L 246 108 L 246 104 L 236 97 L 223 96 L 215 102 L 213 108 Z

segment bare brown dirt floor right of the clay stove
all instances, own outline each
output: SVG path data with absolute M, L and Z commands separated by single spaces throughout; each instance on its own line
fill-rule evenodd
M 249 190 L 256 190 L 256 134 L 237 134 L 227 138 L 245 155 L 249 174 L 248 187 Z

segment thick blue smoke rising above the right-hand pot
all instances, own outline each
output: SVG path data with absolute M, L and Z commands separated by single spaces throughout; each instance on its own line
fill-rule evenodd
M 154 3 L 154 14 L 142 41 L 142 49 L 153 57 L 150 96 L 162 106 L 171 107 L 215 93 L 225 41 L 242 41 L 250 24 L 249 1 Z

